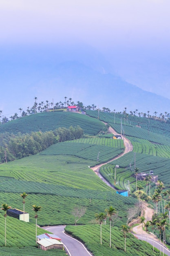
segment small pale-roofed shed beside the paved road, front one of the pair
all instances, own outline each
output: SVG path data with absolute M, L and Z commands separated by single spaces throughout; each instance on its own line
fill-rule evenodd
M 63 249 L 63 243 L 56 239 L 44 238 L 42 240 L 37 241 L 38 248 L 41 248 L 44 251 L 49 249 Z

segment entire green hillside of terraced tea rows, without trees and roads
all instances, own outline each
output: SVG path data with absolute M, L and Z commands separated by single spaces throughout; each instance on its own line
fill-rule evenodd
M 96 111 L 87 111 L 87 114 L 92 117 L 65 112 L 57 114 L 55 112 L 42 113 L 17 119 L 2 125 L 4 127 L 0 127 L 2 129 L 1 132 L 8 131 L 15 133 L 16 130 L 19 132 L 31 132 L 43 127 L 43 131 L 46 131 L 50 130 L 50 127 L 55 129 L 60 126 L 69 127 L 70 125 L 79 125 L 84 128 L 86 133 L 86 138 L 57 143 L 37 155 L 1 164 L 0 202 L 7 203 L 13 208 L 22 209 L 23 204 L 20 193 L 26 191 L 28 196 L 25 200 L 25 211 L 30 213 L 30 224 L 35 223 L 34 212 L 31 211 L 32 205 L 41 205 L 42 211 L 38 215 L 38 225 L 68 225 L 68 231 L 70 233 L 74 233 L 74 236 L 77 236 L 84 241 L 86 246 L 95 256 L 99 256 L 104 252 L 106 255 L 111 255 L 113 253 L 118 256 L 124 255 L 124 237 L 123 234 L 121 234 L 121 225 L 126 224 L 127 210 L 130 207 L 134 207 L 137 199 L 132 197 L 125 198 L 118 195 L 113 189 L 102 182 L 102 180 L 100 180 L 100 178 L 90 168 L 88 168 L 88 166 L 95 166 L 96 164 L 108 162 L 108 160 L 121 154 L 124 150 L 123 140 L 114 140 L 109 136 L 96 136 L 104 127 L 104 124 L 93 117 L 96 115 Z M 117 114 L 115 124 L 113 122 L 113 115 L 113 113 L 103 113 L 102 116 L 100 116 L 100 119 L 108 122 L 110 126 L 117 130 L 117 132 L 120 132 L 120 117 L 123 118 L 124 115 Z M 148 130 L 144 127 L 139 128 L 135 126 L 139 121 L 141 123 L 143 121 L 145 124 L 148 120 L 144 118 L 139 120 L 137 117 L 129 116 L 128 121 L 126 122 L 127 127 L 123 126 L 125 134 L 126 129 L 127 132 L 129 131 L 127 136 L 132 141 L 134 153 L 136 152 L 136 166 L 139 166 L 141 159 L 152 157 L 152 159 L 148 159 L 148 161 L 145 162 L 146 166 L 148 166 L 147 170 L 143 170 L 141 164 L 141 171 L 148 171 L 150 166 L 153 167 L 153 164 L 155 163 L 154 173 L 157 172 L 158 175 L 161 175 L 159 169 L 161 166 L 158 166 L 157 163 L 161 159 L 164 167 L 165 164 L 167 164 L 168 167 L 169 156 L 166 155 L 166 152 L 168 151 L 167 148 L 170 139 L 168 133 L 170 126 L 169 124 L 165 125 L 165 130 L 164 125 L 163 128 L 161 123 L 159 123 L 159 126 L 156 126 L 158 123 L 156 123 L 156 121 L 154 122 L 154 120 L 152 123 L 150 120 L 150 129 L 152 127 L 153 130 L 150 134 L 153 133 L 155 136 L 150 135 L 149 141 L 146 136 L 148 134 Z M 128 128 L 132 129 L 132 131 L 128 130 Z M 138 129 L 137 132 L 135 132 L 135 129 Z M 88 133 L 88 131 L 90 131 L 90 133 Z M 163 135 L 161 133 L 163 133 Z M 87 136 L 88 134 L 89 136 Z M 93 137 L 91 135 L 93 135 Z M 139 140 L 139 143 L 137 143 L 137 140 Z M 151 150 L 149 153 L 148 151 L 146 152 L 146 149 L 148 148 L 146 141 L 147 143 L 151 143 L 151 146 L 160 146 L 160 148 L 157 147 L 155 150 L 157 154 L 162 152 L 163 155 L 153 155 L 151 154 Z M 143 149 L 141 153 L 137 152 L 139 146 Z M 110 183 L 114 184 L 113 171 L 115 164 L 119 164 L 120 168 L 117 168 L 116 186 L 118 188 L 125 188 L 128 180 L 130 180 L 130 189 L 132 191 L 135 187 L 135 178 L 132 176 L 129 169 L 129 163 L 131 163 L 134 168 L 134 153 L 128 153 L 117 159 L 116 162 L 110 162 L 102 167 L 100 172 Z M 99 159 L 97 161 L 98 154 Z M 155 162 L 154 159 L 156 159 Z M 165 171 L 165 175 L 168 177 L 168 169 Z M 169 186 L 168 182 L 165 182 L 165 184 L 167 187 Z M 152 187 L 154 187 L 154 183 L 152 184 Z M 81 225 L 81 230 L 80 225 L 75 227 L 70 226 L 73 225 L 75 221 L 71 211 L 77 206 L 86 207 L 85 215 L 77 222 L 77 224 L 84 224 Z M 104 212 L 105 209 L 110 206 L 115 207 L 116 211 L 119 212 L 119 219 L 114 224 L 112 233 L 115 237 L 115 241 L 119 240 L 120 242 L 117 243 L 116 247 L 114 247 L 115 241 L 113 240 L 113 247 L 109 247 L 109 225 L 106 225 L 103 232 L 104 244 L 100 247 L 99 225 L 94 225 L 95 213 Z M 7 217 L 7 247 L 13 246 L 10 242 L 11 236 L 9 235 L 11 222 L 8 220 L 10 220 L 10 218 L 11 217 Z M 109 220 L 107 220 L 106 223 L 109 224 Z M 23 223 L 23 225 L 24 229 L 27 229 L 27 223 Z M 13 229 L 15 230 L 15 226 L 13 226 Z M 3 232 L 4 227 L 0 233 L 2 246 L 4 245 Z M 91 236 L 91 243 L 89 243 L 87 239 L 87 236 L 89 235 Z M 25 243 L 22 244 L 22 236 L 18 234 L 18 237 L 21 241 L 20 247 L 26 246 Z M 34 244 L 32 246 L 34 246 Z M 146 248 L 146 243 L 139 242 L 131 234 L 128 235 L 126 255 L 155 255 L 153 254 L 152 247 L 150 245 L 147 245 L 147 249 L 144 249 L 144 247 Z M 96 248 L 98 249 L 96 250 Z M 159 252 L 157 253 L 160 254 Z M 17 253 L 14 255 L 17 255 Z

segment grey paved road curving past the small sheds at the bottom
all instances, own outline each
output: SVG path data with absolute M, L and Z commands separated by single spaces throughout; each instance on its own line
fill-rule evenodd
M 90 252 L 87 251 L 86 247 L 71 236 L 68 236 L 64 233 L 64 228 L 66 226 L 53 226 L 53 227 L 42 227 L 42 229 L 48 230 L 59 236 L 64 243 L 64 248 L 69 256 L 93 256 Z

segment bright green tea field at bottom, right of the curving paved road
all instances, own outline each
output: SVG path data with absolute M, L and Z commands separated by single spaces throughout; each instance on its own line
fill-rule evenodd
M 80 225 L 77 227 L 67 226 L 66 231 L 72 234 L 73 237 L 80 239 L 85 243 L 86 247 L 96 256 L 114 255 L 114 256 L 154 256 L 160 255 L 160 252 L 155 249 L 153 252 L 152 246 L 144 241 L 137 240 L 132 234 L 127 234 L 126 238 L 126 253 L 124 252 L 124 236 L 121 229 L 113 227 L 111 232 L 111 248 L 109 247 L 110 229 L 109 225 L 102 225 L 102 245 L 100 243 L 100 225 Z

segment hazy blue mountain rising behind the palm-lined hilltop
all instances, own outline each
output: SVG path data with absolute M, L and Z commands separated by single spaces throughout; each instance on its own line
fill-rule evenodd
M 153 115 L 170 109 L 170 99 L 116 76 L 102 54 L 91 47 L 10 49 L 2 51 L 0 68 L 5 88 L 0 109 L 4 115 L 32 107 L 35 96 L 39 102 L 54 103 L 64 102 L 66 96 L 75 103 L 82 101 L 84 105 L 95 104 L 118 112 L 126 107 L 127 112 L 149 110 Z

